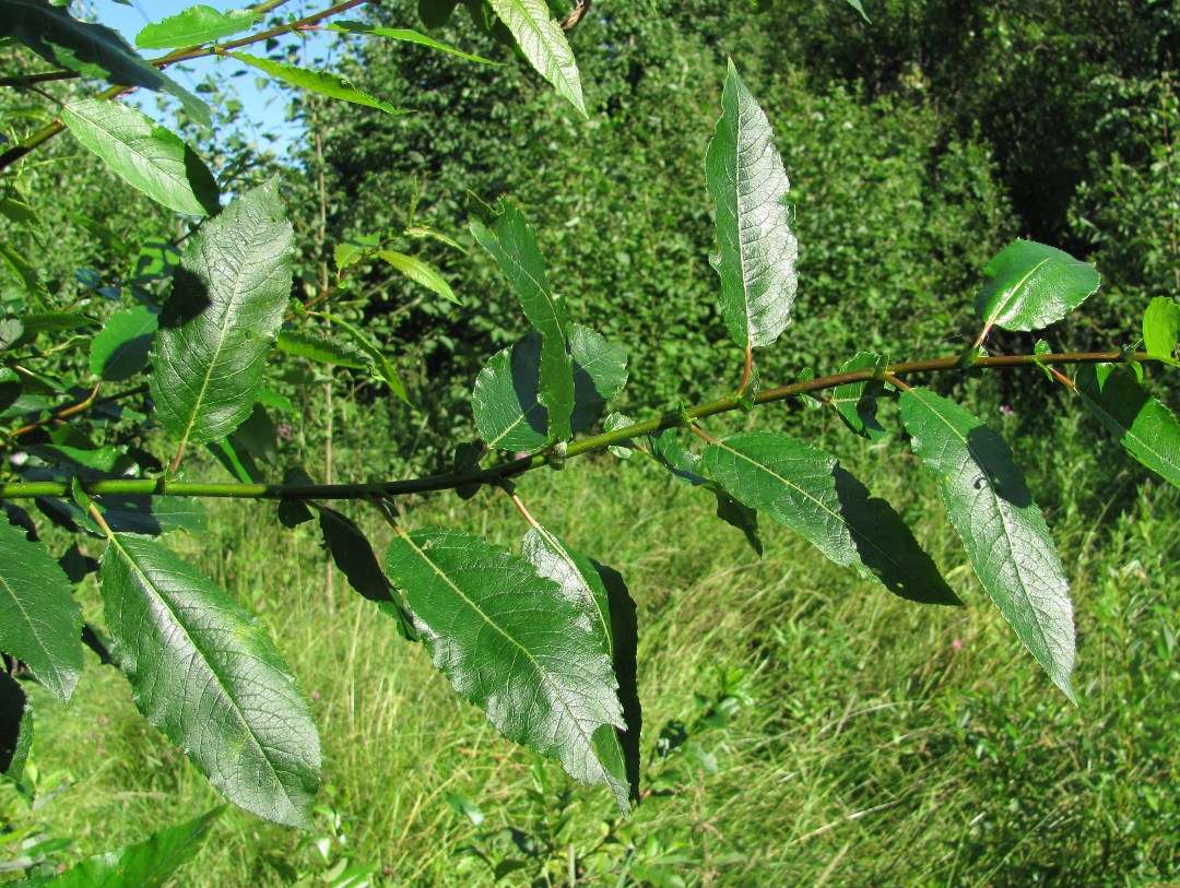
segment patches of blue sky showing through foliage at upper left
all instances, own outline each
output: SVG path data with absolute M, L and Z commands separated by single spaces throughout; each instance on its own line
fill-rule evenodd
M 114 2 L 114 0 L 94 0 L 93 11 L 98 21 L 120 32 L 127 39 L 127 42 L 135 46 L 136 34 L 145 25 L 158 22 L 170 15 L 176 15 L 178 12 L 201 2 L 218 9 L 242 8 L 247 5 L 247 0 L 242 0 L 238 4 L 225 2 L 224 0 L 222 2 L 218 2 L 218 0 L 130 0 L 130 6 L 127 6 Z M 306 0 L 294 0 L 284 5 L 283 11 L 297 15 L 304 7 L 308 12 L 314 12 L 321 8 L 321 5 L 313 6 L 306 2 Z M 310 63 L 317 53 L 322 54 L 326 46 L 326 38 L 310 38 L 306 42 L 304 50 L 307 61 Z M 143 54 L 145 58 L 152 58 L 162 53 L 145 51 Z M 244 106 L 243 117 L 257 124 L 257 126 L 251 127 L 243 134 L 247 138 L 254 138 L 257 142 L 258 150 L 273 149 L 276 153 L 283 154 L 290 146 L 291 140 L 299 138 L 300 127 L 283 119 L 287 103 L 282 92 L 269 85 L 263 85 L 262 88 L 258 87 L 257 81 L 260 78 L 256 74 L 261 72 L 248 68 L 236 61 L 218 61 L 215 59 L 201 59 L 189 63 L 186 67 L 190 71 L 179 70 L 173 66 L 169 68 L 168 73 L 181 85 L 190 90 L 195 88 L 209 73 L 229 77 L 235 72 L 245 72 L 243 75 L 234 77 L 232 85 Z M 160 117 L 155 108 L 153 96 L 142 96 L 138 104 L 145 112 L 157 118 Z M 274 142 L 267 139 L 267 133 L 277 136 L 277 139 Z

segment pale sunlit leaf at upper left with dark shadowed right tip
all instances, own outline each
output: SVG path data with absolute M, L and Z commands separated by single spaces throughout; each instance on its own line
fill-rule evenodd
M 179 136 L 122 101 L 80 99 L 61 120 L 119 178 L 170 210 L 212 216 L 221 209 L 214 175 Z

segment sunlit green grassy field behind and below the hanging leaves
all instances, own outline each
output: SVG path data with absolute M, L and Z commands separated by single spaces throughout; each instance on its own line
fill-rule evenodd
M 607 790 L 500 738 L 341 577 L 329 594 L 309 529 L 211 506 L 212 529 L 173 544 L 273 631 L 312 698 L 326 787 L 309 835 L 227 811 L 177 884 L 365 884 L 330 881 L 343 860 L 382 886 L 571 870 L 607 886 L 1176 884 L 1180 492 L 1032 456 L 1073 581 L 1076 708 L 996 614 L 907 456 L 870 449 L 857 471 L 963 609 L 896 599 L 765 522 L 759 559 L 709 498 L 653 469 L 604 458 L 525 479 L 533 512 L 620 570 L 638 606 L 645 797 L 629 822 Z M 506 500 L 474 506 L 422 501 L 409 524 L 519 539 Z M 388 531 L 363 518 L 380 550 Z M 219 803 L 96 658 L 68 710 L 32 695 L 40 802 L 0 797 L 6 857 L 45 836 L 73 841 L 53 855 L 70 863 Z

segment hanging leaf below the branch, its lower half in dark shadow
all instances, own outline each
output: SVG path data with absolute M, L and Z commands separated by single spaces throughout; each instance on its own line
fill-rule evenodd
M 709 474 L 750 508 L 801 534 L 838 565 L 923 604 L 958 604 L 892 507 L 822 450 L 784 434 L 743 432 L 709 445 Z

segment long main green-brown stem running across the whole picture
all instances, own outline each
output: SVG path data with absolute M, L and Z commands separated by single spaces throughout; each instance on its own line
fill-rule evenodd
M 1119 353 L 1067 353 L 1051 355 L 997 355 L 994 357 L 981 357 L 972 368 L 989 367 L 994 369 L 1011 369 L 1017 367 L 1038 367 L 1048 363 L 1057 364 L 1084 364 L 1084 363 L 1127 363 L 1130 361 L 1160 361 L 1161 359 L 1148 355 L 1145 351 Z M 890 376 L 902 376 L 913 373 L 938 373 L 953 370 L 957 368 L 957 357 L 943 357 L 931 361 L 906 361 L 890 364 L 884 370 L 864 369 L 850 373 L 837 373 L 831 376 L 821 376 L 805 382 L 795 382 L 779 388 L 763 389 L 754 397 L 759 404 L 786 401 L 811 392 L 834 388 L 850 382 L 877 379 L 880 374 Z M 586 438 L 570 443 L 565 449 L 564 459 L 579 454 L 601 450 L 611 445 L 622 443 L 631 438 L 649 435 L 662 432 L 666 428 L 680 428 L 684 426 L 686 417 L 689 421 L 715 416 L 720 413 L 736 410 L 740 407 L 740 399 L 736 395 L 710 401 L 694 407 L 690 410 L 666 413 L 644 422 L 636 422 L 624 428 L 612 432 L 604 432 L 601 435 Z M 360 500 L 378 498 L 392 498 L 412 493 L 431 493 L 435 491 L 453 491 L 458 487 L 472 485 L 491 484 L 523 474 L 540 466 L 546 465 L 550 458 L 538 453 L 531 456 L 522 456 L 518 460 L 505 462 L 491 468 L 476 468 L 467 472 L 444 472 L 437 475 L 424 475 L 398 481 L 379 481 L 372 484 L 323 484 L 323 485 L 281 485 L 281 484 L 205 484 L 195 481 L 169 481 L 166 478 L 149 478 L 135 480 L 106 480 L 84 481 L 81 488 L 87 495 L 120 495 L 120 496 L 221 496 L 235 499 L 264 499 L 264 500 L 309 500 L 309 499 L 333 499 L 333 500 Z M 30 499 L 35 496 L 68 496 L 70 484 L 65 481 L 28 481 L 0 485 L 0 500 Z

